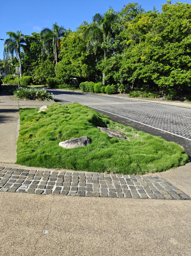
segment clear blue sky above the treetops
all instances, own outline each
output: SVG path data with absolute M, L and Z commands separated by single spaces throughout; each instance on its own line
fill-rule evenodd
M 181 0 L 180 0 L 181 1 Z M 4 0 L 1 5 L 0 38 L 6 40 L 7 31 L 21 30 L 24 35 L 39 33 L 45 27 L 52 28 L 56 22 L 66 29 L 76 28 L 87 21 L 90 23 L 95 13 L 107 12 L 109 6 L 115 11 L 120 11 L 124 5 L 137 2 L 146 11 L 152 10 L 153 6 L 158 11 L 166 0 Z M 175 3 L 176 1 L 172 1 Z M 191 0 L 185 0 L 191 4 Z M 4 41 L 0 40 L 0 59 L 3 59 Z

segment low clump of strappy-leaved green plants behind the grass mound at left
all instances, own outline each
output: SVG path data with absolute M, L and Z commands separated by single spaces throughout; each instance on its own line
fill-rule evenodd
M 25 100 L 41 100 L 41 101 L 51 101 L 53 100 L 53 95 L 45 90 L 34 89 L 34 88 L 23 88 L 14 91 L 14 96 L 16 99 Z

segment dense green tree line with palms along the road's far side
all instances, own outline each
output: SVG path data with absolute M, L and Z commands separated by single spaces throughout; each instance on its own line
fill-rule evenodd
M 77 88 L 82 82 L 101 82 L 105 87 L 118 87 L 121 93 L 135 90 L 140 95 L 191 98 L 190 4 L 169 0 L 161 12 L 146 12 L 139 4 L 129 3 L 120 12 L 109 8 L 103 15 L 96 13 L 92 23 L 84 22 L 76 31 L 55 23 L 52 30 L 46 28 L 32 36 L 20 31 L 14 36 L 18 47 L 14 42 L 10 48 L 11 39 L 6 41 L 1 63 L 7 74 L 20 65 L 8 53 L 23 48 L 18 56 L 23 74 L 33 77 L 36 84 Z M 83 90 L 105 89 L 97 86 L 95 90 L 92 85 Z M 107 91 L 111 92 L 111 86 Z

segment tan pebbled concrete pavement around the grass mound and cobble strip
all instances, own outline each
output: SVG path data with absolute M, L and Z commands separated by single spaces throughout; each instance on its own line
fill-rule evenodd
M 47 104 L 0 95 L 0 166 L 29 168 L 14 164 L 18 110 Z M 157 176 L 191 196 L 191 163 Z M 0 192 L 0 205 L 0 255 L 191 255 L 191 200 Z

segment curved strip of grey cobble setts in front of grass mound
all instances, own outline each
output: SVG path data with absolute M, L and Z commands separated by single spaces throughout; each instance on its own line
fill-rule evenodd
M 65 196 L 191 199 L 156 175 L 69 173 L 9 167 L 0 167 L 0 191 Z

